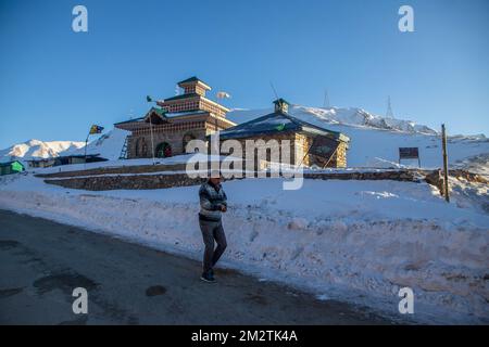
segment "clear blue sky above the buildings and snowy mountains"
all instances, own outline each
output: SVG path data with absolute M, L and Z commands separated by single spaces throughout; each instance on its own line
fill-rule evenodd
M 72 9 L 88 9 L 88 33 Z M 398 30 L 414 9 L 415 33 Z M 0 149 L 84 141 L 197 75 L 229 107 L 358 106 L 489 134 L 486 0 L 0 0 Z

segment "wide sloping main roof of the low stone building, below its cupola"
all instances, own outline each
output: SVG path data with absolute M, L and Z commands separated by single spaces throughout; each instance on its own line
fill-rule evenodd
M 220 137 L 222 140 L 227 140 L 289 131 L 306 132 L 313 136 L 318 134 L 343 142 L 350 141 L 350 139 L 341 132 L 315 126 L 281 112 L 274 112 L 250 121 L 242 123 L 236 127 L 222 130 Z

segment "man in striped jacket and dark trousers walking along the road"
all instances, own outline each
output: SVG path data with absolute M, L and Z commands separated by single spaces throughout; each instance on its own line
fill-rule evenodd
M 220 172 L 212 172 L 211 178 L 200 187 L 199 224 L 202 231 L 205 250 L 201 280 L 215 282 L 213 268 L 227 247 L 222 223 L 222 213 L 227 210 L 227 197 L 221 185 Z M 217 247 L 214 249 L 214 240 Z

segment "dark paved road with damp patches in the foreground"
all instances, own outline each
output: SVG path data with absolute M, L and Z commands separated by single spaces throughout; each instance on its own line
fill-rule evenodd
M 0 210 L 1 324 L 365 324 L 389 321 L 230 270 Z M 73 288 L 88 291 L 75 314 Z

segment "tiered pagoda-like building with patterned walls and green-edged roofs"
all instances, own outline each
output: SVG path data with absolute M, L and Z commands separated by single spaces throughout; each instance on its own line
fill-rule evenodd
M 127 158 L 152 156 L 167 157 L 185 154 L 185 146 L 192 139 L 205 140 L 216 130 L 236 124 L 226 118 L 229 111 L 208 99 L 211 87 L 197 77 L 178 82 L 181 95 L 158 101 L 140 118 L 117 123 L 114 126 L 130 131 L 127 139 Z

